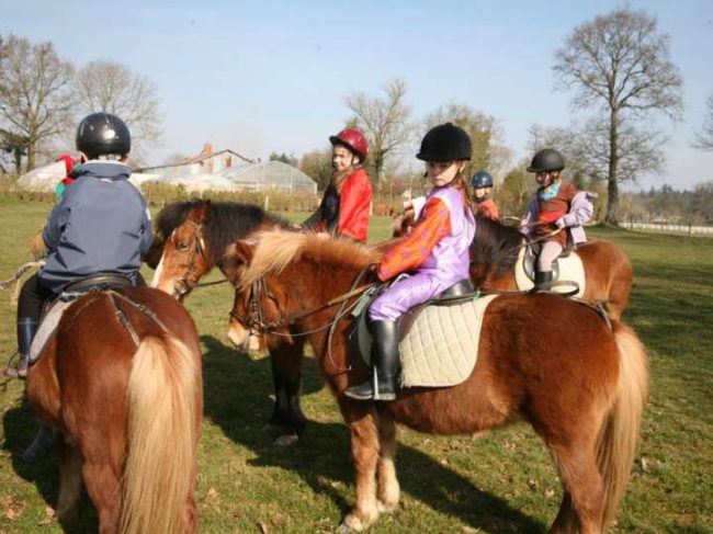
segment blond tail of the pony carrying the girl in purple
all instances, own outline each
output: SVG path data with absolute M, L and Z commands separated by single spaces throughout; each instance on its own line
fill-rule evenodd
M 619 384 L 597 441 L 597 464 L 604 479 L 602 532 L 614 520 L 624 497 L 648 398 L 648 362 L 644 345 L 623 322 L 612 321 L 612 328 L 619 348 Z

